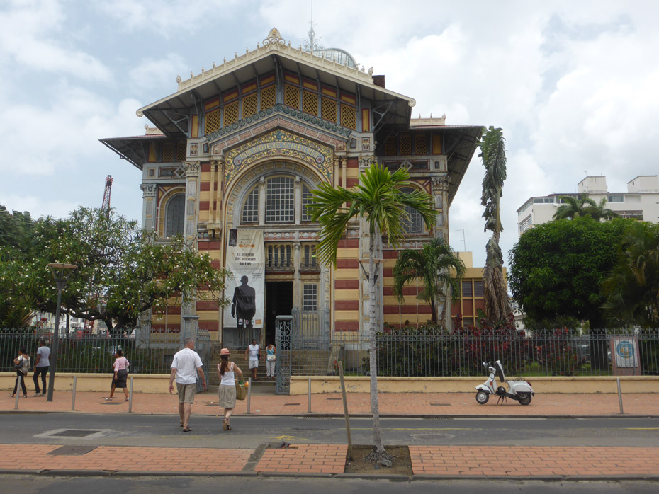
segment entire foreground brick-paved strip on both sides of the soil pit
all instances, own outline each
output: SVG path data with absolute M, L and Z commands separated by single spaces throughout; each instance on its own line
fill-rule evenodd
M 17 455 L 15 448 L 0 444 L 0 473 L 332 476 L 344 473 L 347 455 L 345 444 L 292 444 L 261 451 L 99 446 L 76 455 L 56 444 L 30 445 L 27 455 Z M 659 481 L 659 448 L 411 446 L 410 457 L 412 477 Z M 371 475 L 385 476 L 387 471 L 373 470 Z

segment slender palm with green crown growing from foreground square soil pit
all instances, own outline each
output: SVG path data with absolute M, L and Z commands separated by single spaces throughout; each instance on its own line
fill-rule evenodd
M 385 452 L 380 432 L 380 411 L 378 406 L 378 361 L 376 354 L 376 241 L 386 236 L 388 243 L 398 246 L 405 235 L 403 224 L 409 214 L 405 207 L 416 209 L 427 228 L 434 225 L 436 211 L 432 197 L 422 190 L 402 192 L 409 185 L 409 174 L 404 168 L 393 173 L 378 163 L 359 176 L 359 185 L 351 189 L 334 188 L 328 183 L 312 190 L 308 212 L 313 222 L 320 222 L 320 242 L 316 248 L 319 260 L 324 264 L 337 266 L 337 248 L 344 235 L 348 222 L 354 218 L 364 218 L 368 224 L 368 343 L 371 374 L 371 413 L 373 414 L 373 442 L 375 450 L 366 456 L 370 461 L 391 461 Z

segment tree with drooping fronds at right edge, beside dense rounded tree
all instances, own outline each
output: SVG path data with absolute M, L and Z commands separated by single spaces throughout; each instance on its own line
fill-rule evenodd
M 659 328 L 659 225 L 632 222 L 627 226 L 617 263 L 602 292 L 612 323 Z

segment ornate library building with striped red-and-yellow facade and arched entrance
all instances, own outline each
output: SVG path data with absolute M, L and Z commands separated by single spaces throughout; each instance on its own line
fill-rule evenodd
M 385 76 L 344 50 L 300 50 L 276 29 L 255 45 L 188 79 L 177 77 L 174 93 L 137 110 L 150 121 L 145 135 L 101 139 L 142 171 L 144 228 L 161 241 L 183 234 L 218 268 L 237 275 L 226 294 L 238 294 L 235 315 L 231 307 L 198 300 L 153 314 L 152 329 L 176 330 L 188 314 L 227 345 L 244 334 L 264 342 L 274 340 L 276 316 L 325 311 L 331 338 L 359 333 L 368 326 L 368 280 L 359 266 L 368 258 L 368 229 L 350 224 L 337 268 L 319 265 L 320 227 L 305 210 L 310 191 L 321 183 L 353 187 L 373 161 L 407 168 L 410 187 L 434 197 L 438 221 L 424 229 L 412 212 L 402 247 L 448 238 L 449 207 L 481 127 L 412 119 L 415 100 L 386 88 Z M 239 252 L 244 235 L 258 239 L 255 251 Z M 398 252 L 377 242 L 383 258 L 378 323 L 429 313 L 417 304 L 416 287 L 407 287 L 404 303 L 395 299 L 391 270 Z M 242 272 L 232 263 L 250 270 L 246 285 L 253 292 L 235 287 Z M 241 308 L 249 293 L 254 303 Z M 246 328 L 252 331 L 241 331 Z

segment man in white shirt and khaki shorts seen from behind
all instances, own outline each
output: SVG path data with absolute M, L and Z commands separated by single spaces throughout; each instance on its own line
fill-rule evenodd
M 194 351 L 194 340 L 186 338 L 183 350 L 176 352 L 174 361 L 171 362 L 171 374 L 169 374 L 169 393 L 174 391 L 174 377 L 176 377 L 176 391 L 179 394 L 179 417 L 183 432 L 190 432 L 188 427 L 194 395 L 197 391 L 197 374 L 201 378 L 203 389 L 206 389 L 206 378 L 201 367 L 201 357 Z

